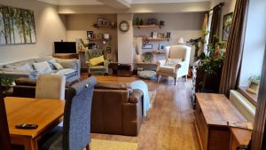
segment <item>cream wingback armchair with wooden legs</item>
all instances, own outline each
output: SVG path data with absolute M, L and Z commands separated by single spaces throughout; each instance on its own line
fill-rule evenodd
M 160 76 L 171 76 L 176 80 L 178 77 L 185 76 L 187 80 L 188 69 L 191 57 L 191 47 L 184 45 L 173 45 L 166 47 L 166 59 L 157 61 L 157 82 Z

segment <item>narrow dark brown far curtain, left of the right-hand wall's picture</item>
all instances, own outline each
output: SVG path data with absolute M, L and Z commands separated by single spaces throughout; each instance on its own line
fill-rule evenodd
M 209 31 L 208 43 L 214 44 L 214 36 L 219 36 L 220 20 L 221 20 L 221 7 L 222 7 L 222 5 L 218 4 L 213 9 L 213 17 L 212 17 L 211 28 Z

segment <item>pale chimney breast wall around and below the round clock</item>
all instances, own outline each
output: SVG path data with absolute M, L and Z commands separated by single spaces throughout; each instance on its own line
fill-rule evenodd
M 122 20 L 129 22 L 129 31 L 121 32 L 117 29 L 117 42 L 118 42 L 118 62 L 119 63 L 132 63 L 133 62 L 133 14 L 117 14 L 117 24 L 119 26 Z M 119 28 L 119 27 L 118 27 Z

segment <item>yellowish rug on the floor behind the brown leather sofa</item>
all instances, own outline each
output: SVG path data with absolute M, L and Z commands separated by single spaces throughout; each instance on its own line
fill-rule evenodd
M 91 139 L 90 150 L 137 150 L 137 143 Z

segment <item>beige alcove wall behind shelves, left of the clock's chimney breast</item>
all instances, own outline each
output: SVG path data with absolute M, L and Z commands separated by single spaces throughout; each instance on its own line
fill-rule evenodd
M 110 34 L 110 45 L 112 45 L 113 56 L 110 56 L 115 60 L 117 53 L 117 31 L 111 28 L 93 28 L 92 25 L 98 22 L 98 19 L 105 19 L 108 22 L 113 21 L 116 23 L 116 14 L 69 14 L 66 15 L 66 35 L 67 41 L 75 42 L 76 38 L 82 38 L 84 43 L 89 43 L 87 40 L 87 31 L 93 31 L 93 33 Z M 102 41 L 93 41 L 90 43 L 96 43 L 103 46 Z

